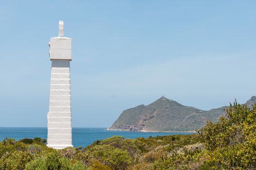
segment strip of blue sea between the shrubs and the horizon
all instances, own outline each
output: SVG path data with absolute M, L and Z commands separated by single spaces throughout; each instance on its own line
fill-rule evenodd
M 96 140 L 102 140 L 111 136 L 124 136 L 125 138 L 138 138 L 149 136 L 166 135 L 188 135 L 191 133 L 169 133 L 169 132 L 125 132 L 106 131 L 106 128 L 72 128 L 72 140 L 74 147 L 86 147 Z M 38 127 L 0 127 L 0 141 L 5 137 L 19 140 L 22 138 L 41 137 L 47 139 L 47 128 Z

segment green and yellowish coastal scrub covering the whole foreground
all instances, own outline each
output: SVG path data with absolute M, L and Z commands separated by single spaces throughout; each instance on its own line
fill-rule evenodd
M 255 170 L 256 105 L 236 102 L 192 135 L 125 139 L 54 150 L 40 138 L 0 142 L 0 170 Z

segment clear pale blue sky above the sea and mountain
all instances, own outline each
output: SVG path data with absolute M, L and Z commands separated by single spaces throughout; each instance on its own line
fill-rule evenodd
M 209 110 L 256 95 L 255 0 L 0 0 L 0 126 L 46 127 L 48 42 L 72 38 L 73 127 L 161 96 Z

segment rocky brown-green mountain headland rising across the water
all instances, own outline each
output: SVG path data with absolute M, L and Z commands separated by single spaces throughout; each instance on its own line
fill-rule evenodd
M 253 103 L 256 103 L 256 96 L 253 96 L 245 104 L 251 106 Z M 219 117 L 224 116 L 225 108 L 223 106 L 208 111 L 200 110 L 184 106 L 162 96 L 149 105 L 142 104 L 124 110 L 108 130 L 138 132 L 195 131 L 204 126 L 207 120 L 216 122 Z

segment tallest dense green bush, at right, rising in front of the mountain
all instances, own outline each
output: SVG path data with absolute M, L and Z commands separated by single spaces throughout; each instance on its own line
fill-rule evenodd
M 226 117 L 207 122 L 201 136 L 208 152 L 202 169 L 256 169 L 256 105 L 234 102 Z

